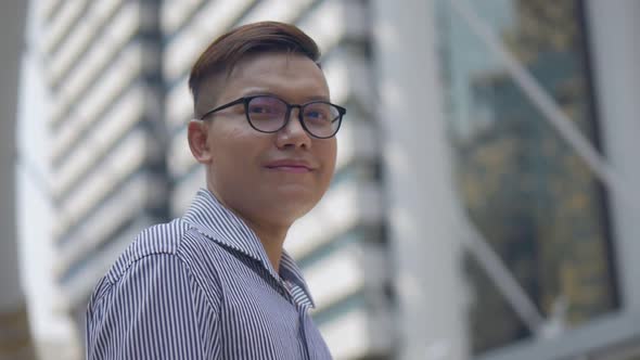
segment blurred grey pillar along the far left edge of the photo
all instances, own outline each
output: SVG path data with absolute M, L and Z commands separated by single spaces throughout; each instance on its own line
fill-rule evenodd
M 17 89 L 26 1 L 7 1 L 0 13 L 0 359 L 33 359 L 18 272 L 15 216 Z

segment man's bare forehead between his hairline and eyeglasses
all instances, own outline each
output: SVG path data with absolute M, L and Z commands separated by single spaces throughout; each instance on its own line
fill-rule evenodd
M 207 81 L 205 91 L 217 88 L 218 103 L 256 93 L 272 93 L 292 102 L 329 99 L 329 87 L 320 67 L 309 57 L 295 53 L 251 55 L 239 61 L 228 76 L 212 80 Z

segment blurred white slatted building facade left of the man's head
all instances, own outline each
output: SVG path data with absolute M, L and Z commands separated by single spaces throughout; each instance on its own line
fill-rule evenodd
M 48 7 L 55 273 L 81 321 L 97 280 L 132 236 L 167 219 L 158 3 Z

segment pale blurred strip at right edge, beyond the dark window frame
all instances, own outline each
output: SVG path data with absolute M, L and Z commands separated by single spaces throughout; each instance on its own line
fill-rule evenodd
M 616 172 L 640 193 L 640 2 L 587 1 L 596 98 L 604 154 Z M 629 194 L 630 195 L 630 194 Z M 630 196 L 629 196 L 630 197 Z M 624 310 L 640 312 L 640 215 L 611 195 Z M 637 208 L 637 207 L 636 207 Z

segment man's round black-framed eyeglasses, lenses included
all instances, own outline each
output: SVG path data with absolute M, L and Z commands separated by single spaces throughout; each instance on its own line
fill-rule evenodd
M 273 95 L 245 97 L 206 112 L 205 118 L 227 107 L 244 104 L 244 113 L 252 128 L 260 132 L 278 132 L 289 124 L 291 110 L 298 108 L 298 120 L 311 137 L 329 139 L 334 137 L 347 110 L 327 101 L 310 101 L 305 104 L 290 104 Z

